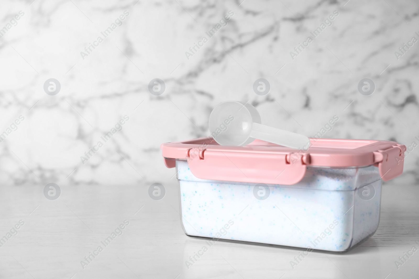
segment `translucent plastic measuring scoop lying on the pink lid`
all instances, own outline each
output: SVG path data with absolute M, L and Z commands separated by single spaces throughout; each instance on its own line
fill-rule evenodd
M 310 145 L 304 135 L 262 125 L 256 108 L 239 101 L 222 102 L 212 110 L 209 132 L 220 145 L 243 146 L 255 138 L 297 149 Z

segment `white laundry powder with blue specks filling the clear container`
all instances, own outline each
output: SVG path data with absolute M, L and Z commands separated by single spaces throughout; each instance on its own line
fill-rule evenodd
M 378 227 L 381 179 L 374 166 L 310 167 L 297 184 L 269 184 L 266 200 L 254 197 L 256 183 L 199 179 L 186 161 L 176 161 L 176 169 L 187 235 L 214 238 L 231 219 L 222 239 L 346 251 Z M 358 188 L 371 182 L 374 197 L 361 199 Z M 338 224 L 325 233 L 334 220 Z

